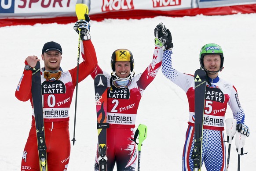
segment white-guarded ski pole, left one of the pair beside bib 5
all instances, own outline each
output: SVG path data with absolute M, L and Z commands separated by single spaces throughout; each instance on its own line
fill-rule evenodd
M 236 125 L 237 125 L 237 121 L 235 119 L 233 118 L 226 119 L 226 132 L 227 132 L 227 141 L 228 141 L 227 171 L 229 167 L 231 141 L 237 130 Z

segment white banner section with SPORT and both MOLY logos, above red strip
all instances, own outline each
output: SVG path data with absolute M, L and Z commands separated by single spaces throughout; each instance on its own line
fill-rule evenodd
M 191 0 L 0 0 L 0 18 L 76 16 L 75 5 L 87 4 L 90 14 L 128 10 L 180 10 Z

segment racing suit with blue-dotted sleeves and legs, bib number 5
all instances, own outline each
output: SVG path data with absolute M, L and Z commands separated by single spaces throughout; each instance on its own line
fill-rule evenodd
M 171 54 L 172 50 L 164 52 L 162 73 L 187 94 L 189 121 L 183 149 L 182 170 L 193 171 L 191 155 L 194 149 L 194 75 L 183 74 L 172 68 Z M 244 124 L 245 114 L 234 85 L 219 77 L 208 79 L 211 85 L 207 83 L 205 91 L 202 163 L 205 161 L 207 171 L 225 171 L 226 147 L 223 130 L 227 104 L 230 106 L 237 123 Z

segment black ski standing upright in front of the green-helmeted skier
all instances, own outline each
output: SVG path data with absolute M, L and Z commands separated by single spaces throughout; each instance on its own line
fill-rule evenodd
M 194 171 L 201 171 L 202 139 L 203 139 L 203 119 L 205 110 L 205 89 L 206 73 L 202 69 L 197 69 L 194 75 L 195 82 L 195 125 L 194 125 L 194 150 L 192 159 Z

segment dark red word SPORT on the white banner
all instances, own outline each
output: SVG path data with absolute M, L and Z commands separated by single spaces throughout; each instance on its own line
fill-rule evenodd
M 27 2 L 29 3 L 29 8 L 32 7 L 33 3 L 40 3 L 39 0 L 20 0 L 23 2 L 22 5 L 18 5 L 19 8 L 26 8 L 26 4 Z M 48 8 L 51 6 L 51 2 L 52 2 L 52 7 L 56 7 L 56 4 L 58 3 L 59 7 L 63 7 L 62 5 L 62 0 L 42 0 L 41 1 L 41 7 L 43 8 Z M 67 6 L 69 7 L 70 5 L 70 0 L 67 1 Z

